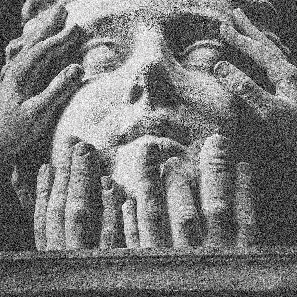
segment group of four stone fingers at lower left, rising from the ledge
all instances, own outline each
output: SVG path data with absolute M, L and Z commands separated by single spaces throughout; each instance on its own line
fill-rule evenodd
M 37 250 L 110 248 L 119 244 L 119 186 L 110 176 L 102 176 L 100 182 L 92 145 L 73 136 L 63 144 L 57 168 L 45 164 L 37 177 Z

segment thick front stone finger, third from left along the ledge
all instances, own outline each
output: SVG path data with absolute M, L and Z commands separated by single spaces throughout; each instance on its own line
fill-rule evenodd
M 88 143 L 75 145 L 65 208 L 66 249 L 93 248 L 100 168 L 95 148 Z

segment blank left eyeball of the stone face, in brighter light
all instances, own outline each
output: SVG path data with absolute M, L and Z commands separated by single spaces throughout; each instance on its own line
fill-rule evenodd
M 81 61 L 85 72 L 91 75 L 112 72 L 122 65 L 120 55 L 107 45 L 99 45 L 90 49 Z

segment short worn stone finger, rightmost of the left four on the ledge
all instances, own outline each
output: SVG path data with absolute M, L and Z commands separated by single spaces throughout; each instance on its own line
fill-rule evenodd
M 119 185 L 110 176 L 102 176 L 102 217 L 100 223 L 100 249 L 110 249 L 121 240 L 121 192 Z

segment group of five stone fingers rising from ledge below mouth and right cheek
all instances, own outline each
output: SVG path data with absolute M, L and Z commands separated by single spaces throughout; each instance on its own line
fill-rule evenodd
M 181 159 L 167 160 L 161 182 L 159 148 L 155 143 L 149 143 L 140 154 L 136 174 L 136 201 L 127 200 L 123 205 L 127 247 L 162 247 L 171 245 L 171 241 L 173 247 L 244 246 L 254 243 L 251 171 L 248 163 L 238 163 L 235 183 L 231 185 L 228 141 L 225 137 L 217 135 L 208 138 L 201 151 L 202 216 L 195 207 Z M 202 225 L 205 227 L 202 228 Z M 235 234 L 232 238 L 231 232 Z

